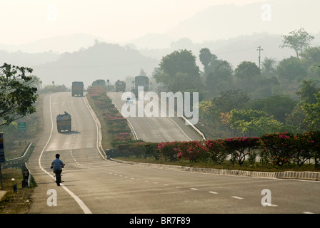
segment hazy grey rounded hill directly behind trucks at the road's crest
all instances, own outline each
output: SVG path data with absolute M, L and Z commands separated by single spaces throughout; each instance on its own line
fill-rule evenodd
M 66 52 L 56 61 L 34 66 L 34 74 L 46 85 L 54 81 L 70 87 L 72 81 L 84 81 L 85 86 L 90 86 L 97 79 L 109 79 L 112 83 L 126 76 L 138 76 L 141 68 L 150 75 L 158 65 L 155 58 L 129 47 L 96 41 L 94 46 Z

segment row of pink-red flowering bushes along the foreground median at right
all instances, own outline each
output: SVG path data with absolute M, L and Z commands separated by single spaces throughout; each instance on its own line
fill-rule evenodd
M 155 143 L 155 142 L 153 142 Z M 232 165 L 237 162 L 244 165 L 247 159 L 250 165 L 284 166 L 294 163 L 302 166 L 306 161 L 320 162 L 320 132 L 293 135 L 291 133 L 274 133 L 261 138 L 237 137 L 218 140 L 160 142 L 153 145 L 152 156 L 158 160 L 190 162 L 208 162 L 221 165 L 228 157 Z M 256 160 L 257 151 L 260 160 Z M 146 155 L 149 156 L 149 155 Z

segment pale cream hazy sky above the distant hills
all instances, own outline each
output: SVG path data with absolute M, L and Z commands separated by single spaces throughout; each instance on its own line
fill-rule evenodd
M 165 33 L 211 5 L 265 1 L 0 0 L 0 43 L 23 44 L 73 33 L 124 42 L 146 33 Z

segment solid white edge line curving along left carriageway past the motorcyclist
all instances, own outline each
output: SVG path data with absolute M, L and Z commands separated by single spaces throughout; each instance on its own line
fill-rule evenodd
M 56 94 L 56 93 L 55 93 Z M 55 95 L 53 94 L 53 95 Z M 52 136 L 52 133 L 54 131 L 54 120 L 52 119 L 52 109 L 51 109 L 51 98 L 52 96 L 50 96 L 50 100 L 49 100 L 49 107 L 50 107 L 50 115 L 51 115 L 51 133 L 49 135 L 49 139 L 46 141 L 46 145 L 44 145 L 44 149 L 41 151 L 41 154 L 39 156 L 39 160 L 38 160 L 38 163 L 39 163 L 39 167 L 41 168 L 41 170 L 43 170 L 44 172 L 46 172 L 46 170 L 44 170 L 44 168 L 41 166 L 41 157 L 42 157 L 42 154 L 44 153 L 44 150 L 46 149 L 46 146 L 49 144 L 49 141 L 51 140 L 51 136 Z M 46 172 L 47 175 L 49 175 L 50 177 L 54 178 L 53 175 L 51 175 L 49 172 Z M 84 204 L 84 202 L 79 198 L 77 197 L 74 192 L 71 192 L 66 186 L 64 186 L 63 184 L 61 184 L 61 187 L 69 193 L 69 195 L 71 195 L 71 197 L 74 198 L 74 200 L 76 200 L 76 202 L 79 204 L 79 206 L 81 207 L 81 209 L 84 211 L 85 214 L 92 214 L 90 209 L 88 207 L 86 207 L 86 204 Z

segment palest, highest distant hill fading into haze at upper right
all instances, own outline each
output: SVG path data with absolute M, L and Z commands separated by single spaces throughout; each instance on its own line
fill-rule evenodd
M 176 39 L 188 37 L 199 43 L 254 33 L 284 35 L 301 27 L 309 33 L 319 33 L 319 7 L 319 0 L 276 0 L 244 6 L 209 6 L 182 21 L 166 35 Z

